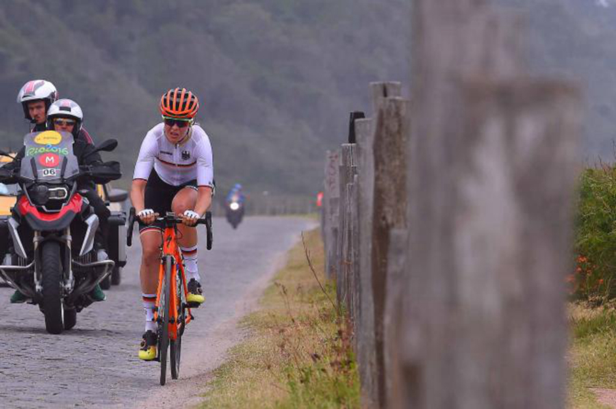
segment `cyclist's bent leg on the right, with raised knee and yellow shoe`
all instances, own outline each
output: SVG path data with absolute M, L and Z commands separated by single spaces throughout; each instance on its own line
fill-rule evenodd
M 172 211 L 179 215 L 186 210 L 194 209 L 197 200 L 196 189 L 192 186 L 187 186 L 181 189 L 173 198 L 171 203 Z M 183 224 L 178 226 L 180 231 L 178 243 L 182 249 L 184 256 L 185 274 L 188 281 L 188 294 L 186 299 L 188 302 L 201 304 L 205 301 L 203 298 L 203 291 L 201 291 L 201 277 L 197 267 L 197 232 L 196 228 L 184 226 Z

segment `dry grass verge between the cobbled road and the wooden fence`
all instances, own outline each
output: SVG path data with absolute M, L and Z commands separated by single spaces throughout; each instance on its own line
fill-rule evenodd
M 202 408 L 359 408 L 350 337 L 324 280 L 319 230 L 305 235 L 242 320 L 248 338 L 214 371 Z M 318 278 L 318 280 L 317 280 Z

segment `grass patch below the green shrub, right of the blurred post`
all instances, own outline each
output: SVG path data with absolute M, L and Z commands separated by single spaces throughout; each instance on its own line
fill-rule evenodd
M 569 347 L 569 408 L 608 408 L 590 388 L 616 388 L 616 310 L 572 304 Z

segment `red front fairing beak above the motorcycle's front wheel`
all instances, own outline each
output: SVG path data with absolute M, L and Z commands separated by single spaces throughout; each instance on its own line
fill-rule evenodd
M 76 215 L 83 211 L 84 206 L 87 207 L 88 204 L 84 202 L 80 194 L 76 193 L 59 212 L 44 213 L 32 205 L 25 196 L 22 196 L 17 202 L 17 211 L 25 218 L 32 230 L 63 230 L 70 225 Z

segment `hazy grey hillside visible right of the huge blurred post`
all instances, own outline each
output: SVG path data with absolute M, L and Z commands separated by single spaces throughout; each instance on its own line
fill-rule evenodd
M 526 16 L 536 75 L 574 79 L 585 90 L 583 159 L 615 158 L 616 2 L 499 0 Z M 606 7 L 607 6 L 607 7 Z

